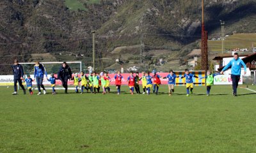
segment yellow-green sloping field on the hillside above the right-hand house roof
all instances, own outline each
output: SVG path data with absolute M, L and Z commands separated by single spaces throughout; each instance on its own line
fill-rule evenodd
M 228 36 L 225 43 L 225 50 L 231 50 L 235 48 L 252 48 L 252 43 L 256 45 L 256 34 L 234 34 Z M 211 51 L 221 52 L 221 40 L 220 41 L 208 41 L 209 49 Z

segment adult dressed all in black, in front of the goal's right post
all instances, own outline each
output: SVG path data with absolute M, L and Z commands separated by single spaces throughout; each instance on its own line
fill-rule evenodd
M 58 79 L 61 80 L 65 88 L 65 94 L 68 93 L 68 79 L 72 78 L 72 72 L 67 62 L 63 62 L 60 70 L 58 71 Z

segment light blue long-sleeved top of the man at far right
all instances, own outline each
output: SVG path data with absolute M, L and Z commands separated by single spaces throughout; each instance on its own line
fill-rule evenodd
M 230 66 L 232 75 L 241 75 L 241 66 L 244 66 L 244 71 L 246 71 L 246 64 L 244 64 L 244 61 L 240 58 L 237 58 L 237 60 L 232 59 L 222 71 L 227 70 Z

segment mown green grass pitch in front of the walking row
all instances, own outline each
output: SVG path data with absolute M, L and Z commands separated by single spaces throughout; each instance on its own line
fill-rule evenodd
M 113 91 L 114 87 L 112 87 Z M 256 90 L 255 86 L 249 89 Z M 256 152 L 256 93 L 229 85 L 160 94 L 12 96 L 0 87 L 0 152 Z M 35 91 L 36 92 L 36 91 Z M 36 92 L 37 93 L 37 92 Z

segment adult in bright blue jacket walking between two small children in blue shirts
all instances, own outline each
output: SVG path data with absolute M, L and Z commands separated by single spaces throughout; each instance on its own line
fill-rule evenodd
M 44 90 L 44 94 L 46 94 L 44 85 L 43 85 L 43 80 L 44 80 L 44 75 L 47 77 L 47 71 L 44 67 L 44 64 L 41 64 L 40 62 L 36 61 L 35 66 L 34 66 L 34 80 L 36 80 L 36 85 L 38 89 L 38 94 L 41 94 L 41 88 Z

